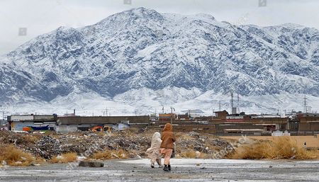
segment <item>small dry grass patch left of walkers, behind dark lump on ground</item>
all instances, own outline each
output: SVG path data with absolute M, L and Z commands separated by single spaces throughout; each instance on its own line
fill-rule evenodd
M 128 152 L 123 149 L 109 150 L 106 149 L 103 152 L 97 152 L 93 154 L 93 159 L 128 159 Z

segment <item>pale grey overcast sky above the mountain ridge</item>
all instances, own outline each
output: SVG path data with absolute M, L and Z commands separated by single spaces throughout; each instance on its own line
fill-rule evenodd
M 124 3 L 127 1 L 128 3 Z M 319 0 L 0 0 L 0 55 L 60 26 L 91 25 L 130 8 L 208 13 L 235 24 L 297 23 L 319 29 Z M 27 28 L 19 36 L 19 29 Z M 22 29 L 25 30 L 25 29 Z M 23 33 L 22 33 L 23 34 Z

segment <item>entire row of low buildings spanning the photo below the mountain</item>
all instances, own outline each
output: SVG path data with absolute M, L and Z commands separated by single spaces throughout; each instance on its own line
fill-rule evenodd
M 158 128 L 172 123 L 175 131 L 208 132 L 215 135 L 315 135 L 319 134 L 319 115 L 245 115 L 217 111 L 213 116 L 196 117 L 186 113 L 159 113 L 140 116 L 77 116 L 77 115 L 11 115 L 1 122 L 1 130 L 37 132 L 54 130 L 58 133 L 89 131 L 93 127 L 125 130 L 128 127 Z M 275 132 L 276 131 L 276 132 Z M 289 134 L 288 134 L 289 133 Z

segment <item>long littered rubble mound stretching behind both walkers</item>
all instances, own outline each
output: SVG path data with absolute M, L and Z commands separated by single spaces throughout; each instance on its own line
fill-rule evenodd
M 16 132 L 0 132 L 0 147 L 13 144 L 35 157 L 52 159 L 59 154 L 75 152 L 79 156 L 90 157 L 105 149 L 123 149 L 129 157 L 145 157 L 145 151 L 150 147 L 152 135 L 155 131 L 138 130 L 112 132 L 111 134 L 81 132 L 67 135 L 30 134 Z M 213 154 L 216 150 L 232 147 L 230 142 L 208 134 L 197 132 L 177 133 L 177 153 L 185 149 Z

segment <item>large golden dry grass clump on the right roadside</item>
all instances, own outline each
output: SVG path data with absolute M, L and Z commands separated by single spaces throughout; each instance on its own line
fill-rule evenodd
M 237 148 L 230 159 L 315 159 L 315 152 L 298 147 L 290 137 L 275 137 L 272 141 L 261 141 L 242 145 Z

